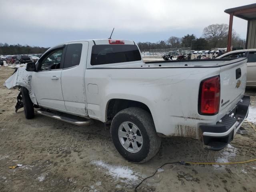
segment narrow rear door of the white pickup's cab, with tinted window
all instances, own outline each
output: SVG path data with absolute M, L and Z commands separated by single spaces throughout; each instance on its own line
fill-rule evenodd
M 61 76 L 66 109 L 79 114 L 87 114 L 84 80 L 88 45 L 88 42 L 68 44 Z

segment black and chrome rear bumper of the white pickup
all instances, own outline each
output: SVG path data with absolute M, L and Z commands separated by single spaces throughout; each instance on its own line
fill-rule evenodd
M 204 148 L 219 151 L 226 147 L 234 138 L 237 130 L 248 116 L 250 96 L 244 95 L 242 102 L 224 116 L 216 125 L 200 125 Z

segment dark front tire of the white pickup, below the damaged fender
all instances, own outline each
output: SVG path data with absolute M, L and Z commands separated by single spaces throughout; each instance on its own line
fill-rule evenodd
M 26 117 L 26 119 L 32 119 L 35 116 L 34 106 L 30 99 L 28 90 L 26 88 L 22 87 L 21 93 L 22 93 L 22 102 L 23 102 L 25 117 Z

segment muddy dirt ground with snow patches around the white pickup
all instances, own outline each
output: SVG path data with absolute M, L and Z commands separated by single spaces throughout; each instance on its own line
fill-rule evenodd
M 132 192 L 166 162 L 237 162 L 256 158 L 256 130 L 236 134 L 222 151 L 186 138 L 164 138 L 158 154 L 133 164 L 118 154 L 104 124 L 79 127 L 36 114 L 14 112 L 18 90 L 3 86 L 14 70 L 0 67 L 0 192 Z M 246 90 L 256 105 L 256 89 Z M 8 168 L 22 164 L 15 169 Z M 256 162 L 234 165 L 166 165 L 139 192 L 255 192 Z

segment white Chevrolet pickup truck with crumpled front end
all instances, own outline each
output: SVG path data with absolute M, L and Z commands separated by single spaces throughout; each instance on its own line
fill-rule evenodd
M 246 58 L 143 62 L 130 40 L 79 40 L 48 49 L 6 80 L 19 88 L 16 111 L 76 125 L 111 125 L 118 152 L 146 162 L 161 137 L 201 140 L 221 150 L 248 115 Z

